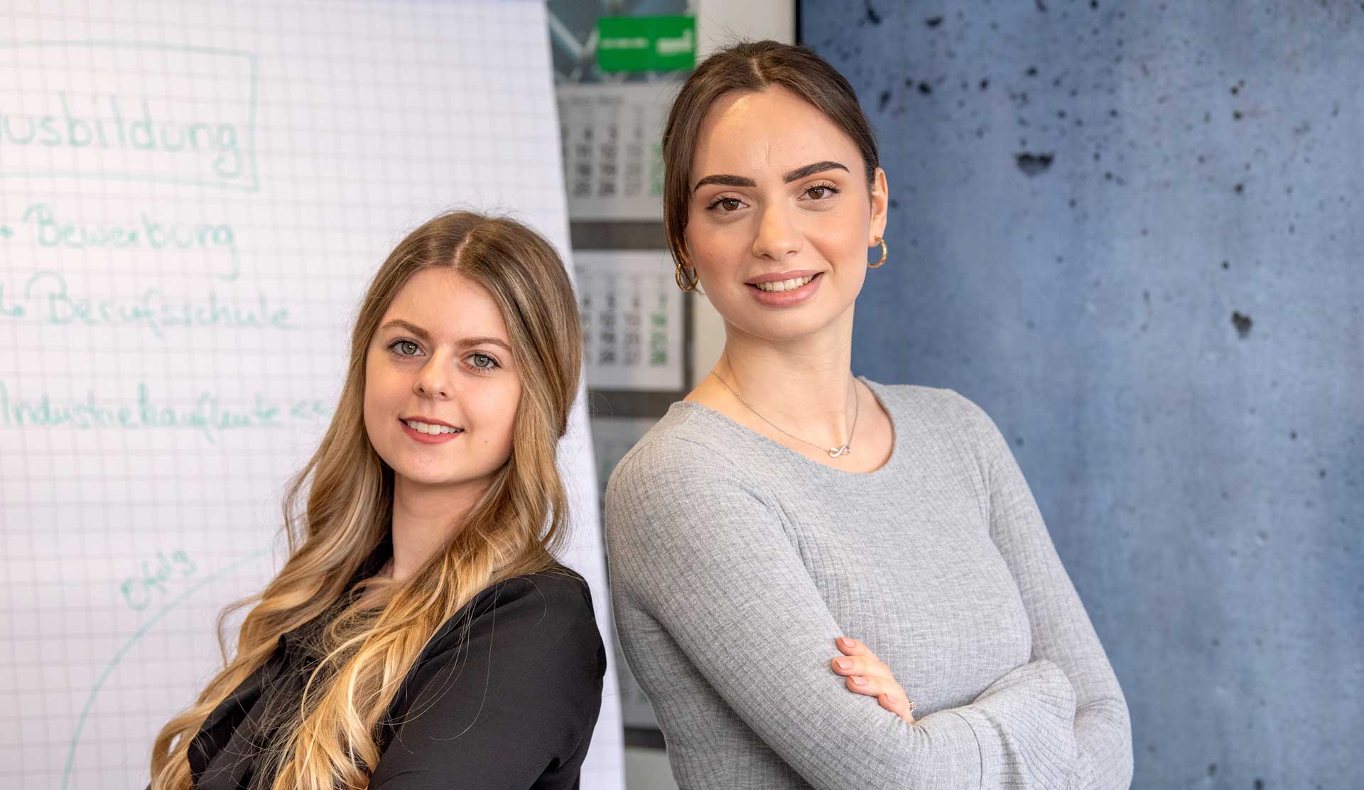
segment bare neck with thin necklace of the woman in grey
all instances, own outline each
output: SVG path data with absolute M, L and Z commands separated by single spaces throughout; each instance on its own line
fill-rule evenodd
M 822 330 L 768 340 L 726 325 L 715 366 L 739 396 L 782 430 L 813 443 L 848 441 L 854 420 L 853 308 Z

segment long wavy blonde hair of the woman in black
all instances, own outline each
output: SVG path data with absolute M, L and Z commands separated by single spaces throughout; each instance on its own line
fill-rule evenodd
M 409 579 L 361 581 L 382 606 L 345 607 L 304 700 L 267 749 L 274 790 L 364 787 L 379 761 L 379 726 L 435 630 L 488 585 L 548 570 L 565 538 L 567 501 L 555 464 L 577 394 L 577 303 L 554 248 L 516 221 L 457 211 L 408 235 L 370 284 L 351 334 L 351 363 L 331 424 L 284 498 L 289 558 L 258 595 L 218 619 L 224 669 L 151 749 L 151 789 L 191 786 L 188 748 L 213 709 L 274 652 L 281 634 L 323 614 L 391 525 L 393 469 L 364 428 L 366 355 L 389 304 L 416 272 L 447 267 L 502 311 L 521 375 L 512 453 L 454 538 Z M 304 494 L 306 490 L 306 494 Z M 300 503 L 307 497 L 306 508 Z M 252 606 L 254 604 L 254 606 Z M 225 618 L 251 607 L 228 660 Z

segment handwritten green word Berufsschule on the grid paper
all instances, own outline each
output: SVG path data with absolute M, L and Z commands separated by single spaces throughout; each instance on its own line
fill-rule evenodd
M 56 326 L 145 326 L 164 337 L 169 327 L 225 326 L 231 329 L 297 329 L 289 323 L 289 308 L 271 304 L 263 292 L 256 300 L 233 302 L 211 288 L 199 296 L 166 296 L 146 288 L 131 296 L 74 295 L 59 272 L 38 272 L 29 277 L 18 299 L 0 282 L 0 321 L 40 321 Z

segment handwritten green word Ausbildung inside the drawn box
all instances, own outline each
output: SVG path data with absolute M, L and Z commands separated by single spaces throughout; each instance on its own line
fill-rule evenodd
M 154 119 L 145 98 L 135 102 L 140 115 L 125 115 L 124 104 L 112 94 L 71 97 L 59 91 L 57 104 L 60 113 L 0 112 L 0 146 L 192 151 L 207 157 L 218 177 L 236 179 L 244 172 L 235 123 Z

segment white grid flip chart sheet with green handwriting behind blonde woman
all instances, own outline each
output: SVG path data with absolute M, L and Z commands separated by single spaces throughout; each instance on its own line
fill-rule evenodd
M 546 11 L 14 0 L 0 30 L 0 786 L 142 787 L 282 559 L 387 251 L 468 207 L 566 255 Z M 610 645 L 581 397 L 561 463 Z M 585 789 L 623 785 L 615 677 Z

